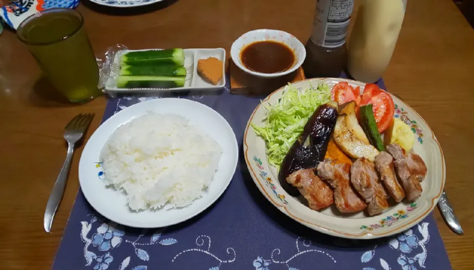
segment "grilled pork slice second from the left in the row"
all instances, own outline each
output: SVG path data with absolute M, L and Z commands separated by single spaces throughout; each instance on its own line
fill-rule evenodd
M 362 211 L 367 207 L 349 183 L 350 164 L 334 163 L 331 159 L 326 158 L 319 162 L 316 170 L 317 175 L 334 188 L 334 200 L 339 211 L 353 213 Z

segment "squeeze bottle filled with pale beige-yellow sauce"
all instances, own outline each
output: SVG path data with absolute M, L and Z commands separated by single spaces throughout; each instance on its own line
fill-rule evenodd
M 348 71 L 372 83 L 387 69 L 405 16 L 406 0 L 362 0 L 348 41 Z

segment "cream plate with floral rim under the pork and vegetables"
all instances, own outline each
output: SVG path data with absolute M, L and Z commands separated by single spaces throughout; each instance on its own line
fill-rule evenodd
M 325 82 L 332 88 L 339 81 L 347 81 L 353 86 L 360 86 L 361 92 L 365 86 L 363 82 L 341 78 L 307 79 L 293 83 L 293 86 L 305 89 L 310 87 L 310 83 L 316 86 Z M 283 90 L 284 88 L 276 90 L 262 103 L 275 103 L 282 96 Z M 409 203 L 403 200 L 391 205 L 384 213 L 373 217 L 364 212 L 343 215 L 335 207 L 329 207 L 320 212 L 311 210 L 297 198 L 286 193 L 280 186 L 276 168 L 268 164 L 265 142 L 255 135 L 250 126 L 250 123 L 263 125 L 267 110 L 261 104 L 248 120 L 243 141 L 245 161 L 258 189 L 287 216 L 311 229 L 334 236 L 371 239 L 393 235 L 415 226 L 435 208 L 444 187 L 445 162 L 435 134 L 425 120 L 399 98 L 391 96 L 395 102 L 395 117 L 399 117 L 410 125 L 413 136 L 416 136 L 413 150 L 423 158 L 428 167 L 428 174 L 422 182 L 423 193 L 415 202 Z

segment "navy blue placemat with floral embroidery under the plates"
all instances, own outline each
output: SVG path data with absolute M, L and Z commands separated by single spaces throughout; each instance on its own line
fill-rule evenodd
M 379 85 L 385 89 L 383 81 Z M 231 95 L 228 90 L 227 85 L 219 93 L 179 97 L 201 102 L 224 116 L 234 129 L 241 149 L 248 117 L 263 97 Z M 111 99 L 103 120 L 152 98 L 156 97 Z M 79 190 L 52 268 L 451 269 L 432 215 L 390 238 L 350 240 L 328 236 L 278 211 L 258 191 L 241 157 L 242 154 L 234 178 L 220 199 L 197 217 L 167 228 L 143 230 L 117 225 L 95 212 Z

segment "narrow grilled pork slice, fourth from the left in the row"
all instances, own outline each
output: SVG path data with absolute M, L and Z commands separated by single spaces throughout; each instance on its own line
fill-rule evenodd
M 405 192 L 396 179 L 394 169 L 394 158 L 387 152 L 380 152 L 375 157 L 375 168 L 380 173 L 380 178 L 385 183 L 385 187 L 396 202 L 400 202 L 405 197 Z

